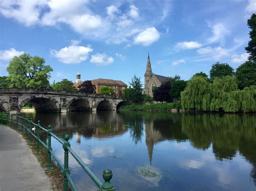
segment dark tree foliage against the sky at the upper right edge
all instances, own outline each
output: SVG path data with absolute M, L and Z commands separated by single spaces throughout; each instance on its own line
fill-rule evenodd
M 247 53 L 249 53 L 248 60 L 252 62 L 256 62 L 256 14 L 253 13 L 251 19 L 247 20 L 247 25 L 251 29 L 250 38 L 251 40 L 248 42 L 248 46 L 245 47 Z

